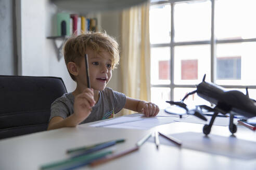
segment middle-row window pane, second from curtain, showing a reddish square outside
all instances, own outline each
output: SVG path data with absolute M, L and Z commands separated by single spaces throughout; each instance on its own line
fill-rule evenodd
M 211 79 L 210 45 L 176 46 L 174 48 L 174 83 L 198 84 L 203 75 Z

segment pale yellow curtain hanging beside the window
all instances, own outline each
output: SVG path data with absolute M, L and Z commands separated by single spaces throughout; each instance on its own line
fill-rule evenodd
M 120 66 L 126 96 L 150 101 L 149 3 L 122 12 Z M 132 111 L 123 110 L 123 114 Z

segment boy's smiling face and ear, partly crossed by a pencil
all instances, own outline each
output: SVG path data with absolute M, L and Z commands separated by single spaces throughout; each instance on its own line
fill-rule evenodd
M 105 50 L 100 49 L 100 51 L 100 53 L 95 53 L 92 49 L 86 50 L 88 55 L 89 78 L 91 88 L 94 90 L 104 90 L 112 76 L 111 55 Z M 79 77 L 87 87 L 85 59 L 82 60 L 80 65 Z

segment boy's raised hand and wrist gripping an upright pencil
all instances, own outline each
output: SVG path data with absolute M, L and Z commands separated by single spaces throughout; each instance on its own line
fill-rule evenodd
M 86 88 L 81 94 L 75 96 L 74 115 L 79 122 L 82 122 L 91 114 L 95 103 L 93 89 Z

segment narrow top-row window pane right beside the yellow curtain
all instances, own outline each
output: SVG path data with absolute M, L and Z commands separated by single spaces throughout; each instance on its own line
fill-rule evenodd
M 152 5 L 149 11 L 149 35 L 151 44 L 170 43 L 170 4 Z

